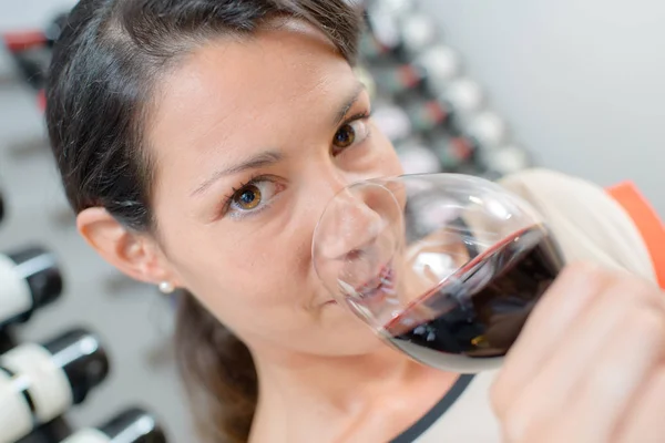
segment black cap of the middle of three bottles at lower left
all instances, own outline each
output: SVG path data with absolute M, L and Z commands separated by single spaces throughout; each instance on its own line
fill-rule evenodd
M 109 374 L 109 357 L 104 347 L 95 334 L 85 329 L 69 330 L 44 343 L 44 348 L 64 371 L 74 404 L 82 403 Z

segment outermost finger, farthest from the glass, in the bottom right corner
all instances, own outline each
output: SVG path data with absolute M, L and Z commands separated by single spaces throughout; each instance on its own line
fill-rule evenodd
M 645 383 L 643 395 L 626 411 L 617 443 L 656 443 L 665 440 L 665 368 L 656 370 Z

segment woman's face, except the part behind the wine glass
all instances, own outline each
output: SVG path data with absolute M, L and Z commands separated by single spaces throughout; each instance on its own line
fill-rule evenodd
M 349 64 L 297 23 L 211 42 L 161 83 L 147 137 L 162 248 L 177 284 L 255 351 L 377 346 L 311 262 L 326 203 L 401 173 L 369 114 Z

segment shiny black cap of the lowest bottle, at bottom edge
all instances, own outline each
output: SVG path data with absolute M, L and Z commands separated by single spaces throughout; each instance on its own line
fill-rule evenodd
M 99 427 L 111 443 L 166 443 L 166 435 L 154 415 L 131 408 Z

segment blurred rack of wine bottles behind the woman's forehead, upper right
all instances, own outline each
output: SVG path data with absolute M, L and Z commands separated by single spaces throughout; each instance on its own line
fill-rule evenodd
M 488 94 L 466 72 L 416 0 L 365 3 L 358 73 L 372 94 L 375 122 L 407 173 L 450 172 L 490 179 L 531 165 Z

